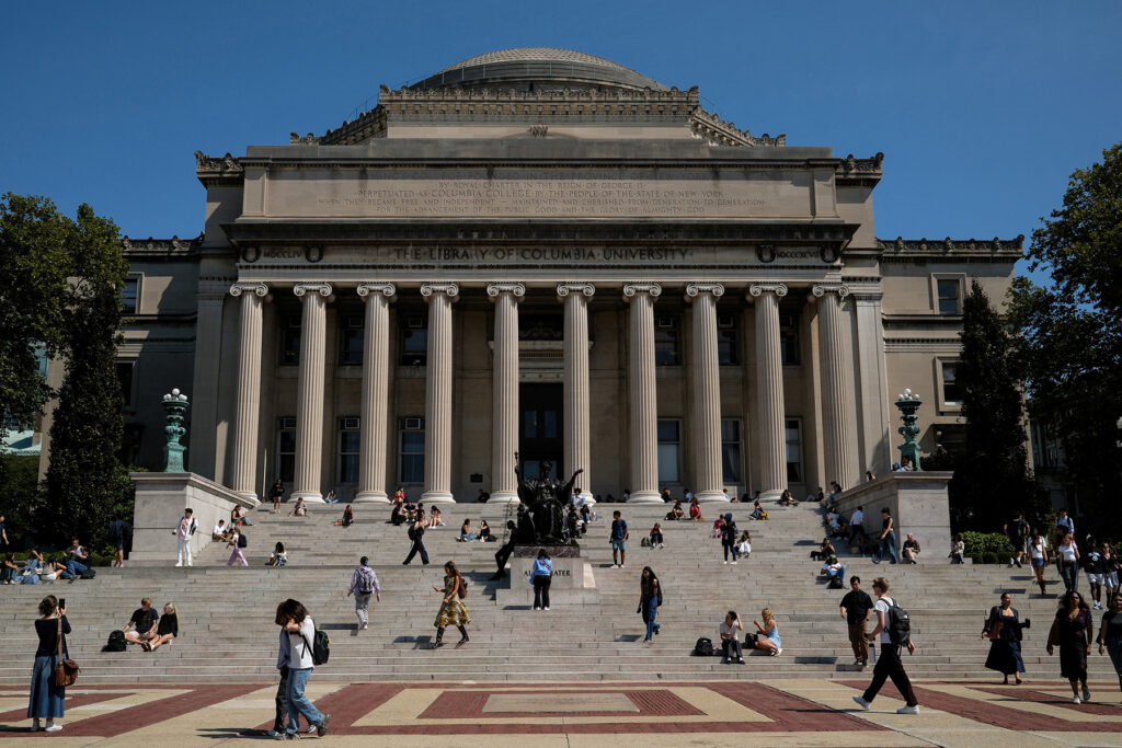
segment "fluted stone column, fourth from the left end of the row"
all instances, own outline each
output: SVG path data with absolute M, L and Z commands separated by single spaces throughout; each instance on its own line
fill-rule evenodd
M 426 283 L 429 350 L 425 357 L 424 493 L 425 504 L 452 504 L 452 301 L 454 283 Z

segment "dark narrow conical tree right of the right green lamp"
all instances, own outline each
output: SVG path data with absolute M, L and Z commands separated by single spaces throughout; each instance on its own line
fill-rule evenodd
M 950 486 L 956 525 L 1000 530 L 1018 510 L 1031 511 L 1023 382 L 1013 335 L 975 280 L 963 303 L 963 348 L 955 377 L 963 394 L 966 445 Z

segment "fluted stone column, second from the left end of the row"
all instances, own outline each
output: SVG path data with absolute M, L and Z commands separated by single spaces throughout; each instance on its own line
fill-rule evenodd
M 292 498 L 322 502 L 320 468 L 323 464 L 323 367 L 327 364 L 325 283 L 300 283 L 292 293 L 303 301 L 300 321 L 300 384 L 296 395 L 296 477 Z

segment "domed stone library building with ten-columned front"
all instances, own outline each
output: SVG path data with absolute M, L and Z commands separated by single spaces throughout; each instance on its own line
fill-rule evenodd
M 310 500 L 509 500 L 515 450 L 589 497 L 806 496 L 888 470 L 904 387 L 925 451 L 954 441 L 962 299 L 1003 297 L 1021 238 L 877 239 L 880 154 L 752 136 L 597 57 L 504 55 L 195 155 L 202 236 L 126 246 L 141 464 L 173 386 L 188 469 L 246 498 L 280 475 Z

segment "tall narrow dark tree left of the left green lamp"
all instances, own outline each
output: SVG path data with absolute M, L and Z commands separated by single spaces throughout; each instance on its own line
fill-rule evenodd
M 120 232 L 81 205 L 71 234 L 64 321 L 66 373 L 50 427 L 48 505 L 59 539 L 104 537 L 128 475 L 118 453 L 123 400 L 117 380 L 120 295 L 128 265 Z

